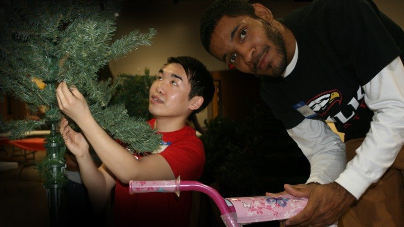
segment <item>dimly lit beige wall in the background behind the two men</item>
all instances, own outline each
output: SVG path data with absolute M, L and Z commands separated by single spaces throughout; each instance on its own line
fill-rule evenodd
M 168 56 L 190 55 L 206 64 L 210 71 L 226 70 L 227 65 L 207 53 L 199 41 L 199 18 L 203 10 L 213 1 L 130 1 L 123 5 L 117 21 L 116 38 L 132 30 L 147 32 L 157 30 L 157 37 L 151 46 L 140 46 L 118 61 L 109 64 L 113 76 L 120 73 L 141 74 L 145 67 L 152 75 L 157 74 Z M 282 17 L 290 11 L 308 4 L 292 0 L 250 1 L 262 3 L 275 17 Z M 378 7 L 398 25 L 404 28 L 404 0 L 374 0 Z M 207 119 L 208 111 L 198 113 L 200 123 Z

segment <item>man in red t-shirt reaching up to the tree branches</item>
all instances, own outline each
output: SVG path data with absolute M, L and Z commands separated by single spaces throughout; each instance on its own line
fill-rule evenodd
M 130 180 L 197 180 L 203 173 L 205 152 L 195 131 L 186 125 L 191 114 L 212 100 L 212 75 L 189 56 L 169 58 L 149 90 L 150 127 L 162 134 L 158 151 L 137 157 L 114 141 L 94 120 L 82 94 L 62 82 L 57 90 L 59 108 L 82 130 L 77 133 L 61 121 L 61 134 L 76 156 L 82 181 L 95 212 L 104 210 L 115 187 L 116 226 L 188 226 L 191 193 L 129 194 Z M 87 142 L 88 141 L 88 142 Z M 103 161 L 94 165 L 89 144 Z

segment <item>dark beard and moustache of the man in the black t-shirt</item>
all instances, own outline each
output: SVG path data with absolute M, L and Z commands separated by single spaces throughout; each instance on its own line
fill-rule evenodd
M 259 21 L 261 21 L 261 23 L 264 25 L 264 29 L 267 34 L 268 40 L 274 44 L 276 52 L 280 56 L 279 63 L 275 67 L 272 67 L 271 64 L 268 64 L 266 70 L 272 69 L 273 73 L 272 73 L 272 75 L 269 75 L 269 76 L 281 78 L 283 72 L 286 69 L 286 64 L 287 64 L 286 48 L 285 48 L 285 43 L 283 41 L 283 37 L 282 37 L 281 33 L 278 30 L 276 30 L 275 28 L 273 28 L 267 21 L 265 21 L 263 19 L 259 19 Z M 269 49 L 270 49 L 270 46 L 268 44 L 265 44 L 263 50 L 261 51 L 260 54 L 257 55 L 257 57 L 254 61 L 254 69 L 252 69 L 252 72 L 257 73 L 259 61 L 260 61 L 261 57 L 263 56 L 263 54 L 265 54 L 265 52 L 268 51 Z

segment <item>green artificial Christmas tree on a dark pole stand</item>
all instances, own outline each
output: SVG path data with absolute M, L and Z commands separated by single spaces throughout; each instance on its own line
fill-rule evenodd
M 52 226 L 63 224 L 63 175 L 65 146 L 57 123 L 62 118 L 55 88 L 61 81 L 76 86 L 86 97 L 100 126 L 113 138 L 128 144 L 132 152 L 155 150 L 161 136 L 142 119 L 127 114 L 124 104 L 109 105 L 114 86 L 98 82 L 97 72 L 140 45 L 150 45 L 156 35 L 132 31 L 113 40 L 117 1 L 1 1 L 0 92 L 12 95 L 36 111 L 45 109 L 38 121 L 6 121 L 0 130 L 10 139 L 48 125 L 46 158 L 37 164 L 49 199 Z M 74 124 L 74 123 L 73 123 Z M 74 126 L 73 126 L 74 127 Z

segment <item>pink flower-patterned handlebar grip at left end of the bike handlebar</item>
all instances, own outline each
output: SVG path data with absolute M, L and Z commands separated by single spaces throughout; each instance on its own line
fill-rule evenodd
M 146 192 L 174 192 L 180 196 L 180 177 L 168 181 L 130 181 L 129 194 Z

